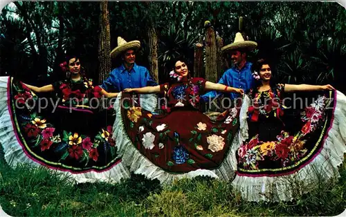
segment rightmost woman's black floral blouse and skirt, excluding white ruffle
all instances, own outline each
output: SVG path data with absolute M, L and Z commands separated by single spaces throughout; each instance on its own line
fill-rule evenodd
M 333 120 L 334 93 L 313 93 L 315 100 L 302 109 L 286 109 L 282 93 L 282 86 L 251 92 L 248 140 L 237 151 L 239 176 L 294 173 L 320 153 Z

